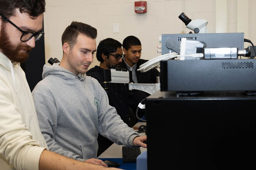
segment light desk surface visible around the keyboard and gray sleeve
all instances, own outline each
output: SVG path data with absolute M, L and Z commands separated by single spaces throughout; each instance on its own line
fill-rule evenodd
M 140 125 L 146 125 L 146 122 L 138 122 L 134 127 L 140 127 Z M 145 133 L 140 133 L 141 136 Z M 107 150 L 105 150 L 98 158 L 122 158 L 122 146 L 113 143 Z M 147 148 L 140 147 L 141 153 L 146 151 Z

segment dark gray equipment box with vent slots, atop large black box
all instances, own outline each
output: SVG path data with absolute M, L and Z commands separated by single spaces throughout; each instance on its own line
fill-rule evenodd
M 160 62 L 161 91 L 256 91 L 256 59 Z

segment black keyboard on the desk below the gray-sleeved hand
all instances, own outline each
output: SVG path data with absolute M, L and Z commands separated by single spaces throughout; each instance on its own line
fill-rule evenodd
M 136 162 L 137 156 L 140 155 L 140 147 L 122 147 L 123 162 Z

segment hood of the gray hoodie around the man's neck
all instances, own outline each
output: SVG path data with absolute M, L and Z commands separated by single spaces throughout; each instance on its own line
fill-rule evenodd
M 54 63 L 53 65 L 44 65 L 42 74 L 43 79 L 49 75 L 56 75 L 67 81 L 74 81 L 76 79 L 84 81 L 86 77 L 86 74 L 80 73 L 76 76 L 71 71 L 68 71 L 67 69 L 61 67 L 60 62 Z

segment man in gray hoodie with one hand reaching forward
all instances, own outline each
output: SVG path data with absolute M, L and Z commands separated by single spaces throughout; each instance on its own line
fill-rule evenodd
M 72 22 L 62 34 L 61 63 L 44 65 L 43 80 L 32 91 L 49 150 L 80 161 L 96 158 L 99 133 L 128 147 L 147 146 L 146 136 L 122 121 L 99 82 L 85 74 L 96 35 L 95 28 Z

